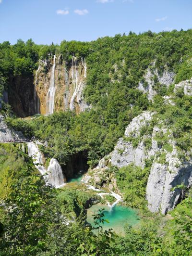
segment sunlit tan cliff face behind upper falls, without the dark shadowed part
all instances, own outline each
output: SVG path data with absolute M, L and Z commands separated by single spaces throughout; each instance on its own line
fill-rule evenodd
M 36 112 L 47 114 L 48 90 L 52 76 L 53 58 L 39 62 L 35 76 Z M 56 56 L 54 66 L 55 100 L 54 111 L 75 110 L 78 114 L 88 105 L 84 102 L 83 90 L 86 78 L 86 63 L 83 59 L 72 58 L 66 64 L 62 55 Z

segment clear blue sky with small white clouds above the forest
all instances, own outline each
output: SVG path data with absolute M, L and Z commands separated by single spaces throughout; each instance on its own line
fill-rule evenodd
M 192 27 L 192 0 L 0 0 L 0 42 L 90 41 Z

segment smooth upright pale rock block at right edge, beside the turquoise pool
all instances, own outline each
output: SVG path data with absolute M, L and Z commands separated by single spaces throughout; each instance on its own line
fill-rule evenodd
M 176 155 L 174 149 L 167 154 L 166 165 L 155 161 L 153 163 L 146 189 L 148 208 L 152 212 L 166 214 L 172 210 L 178 203 L 180 190 L 171 191 L 171 188 L 181 183 L 192 185 L 192 159 L 182 165 Z

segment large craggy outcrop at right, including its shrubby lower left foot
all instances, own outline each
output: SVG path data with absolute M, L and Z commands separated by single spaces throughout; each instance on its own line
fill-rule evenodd
M 152 133 L 141 132 L 143 128 L 147 130 L 145 128 L 150 125 L 154 115 L 145 111 L 133 118 L 124 138 L 119 139 L 114 151 L 108 155 L 109 160 L 101 159 L 93 173 L 89 172 L 86 178 L 97 187 L 108 184 L 113 188 L 115 186 L 109 180 L 107 171 L 109 164 L 119 168 L 130 164 L 144 168 L 146 159 L 152 159 L 146 187 L 148 208 L 152 212 L 166 214 L 180 201 L 180 189 L 171 189 L 181 183 L 188 187 L 192 185 L 192 153 L 186 155 L 178 150 L 172 131 L 163 126 L 161 120 L 157 119 Z M 164 138 L 164 146 L 158 138 Z M 187 160 L 181 160 L 181 154 L 187 156 Z

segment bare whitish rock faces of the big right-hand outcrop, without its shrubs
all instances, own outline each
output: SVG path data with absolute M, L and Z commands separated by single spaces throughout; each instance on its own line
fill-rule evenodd
M 133 118 L 126 128 L 125 137 L 137 138 L 140 135 L 140 129 L 149 124 L 154 114 L 145 111 Z M 168 152 L 160 145 L 158 146 L 157 134 L 168 137 L 168 144 L 170 148 L 172 147 L 172 152 Z M 146 138 L 151 139 L 151 147 L 149 148 L 146 148 L 144 144 Z M 126 138 L 120 138 L 113 152 L 110 153 L 111 165 L 118 167 L 134 164 L 144 168 L 145 159 L 154 156 L 146 187 L 148 208 L 152 212 L 166 214 L 172 210 L 177 205 L 181 192 L 179 189 L 171 191 L 171 188 L 181 183 L 188 187 L 192 185 L 192 157 L 187 162 L 181 163 L 175 144 L 171 130 L 162 127 L 159 120 L 159 123 L 153 128 L 152 135 L 144 135 L 136 148 L 133 147 L 132 142 L 126 141 Z M 162 154 L 165 156 L 165 160 L 160 158 Z M 103 166 L 101 165 L 103 163 L 103 160 L 100 161 L 100 166 Z M 92 179 L 95 180 L 95 177 L 93 176 Z

